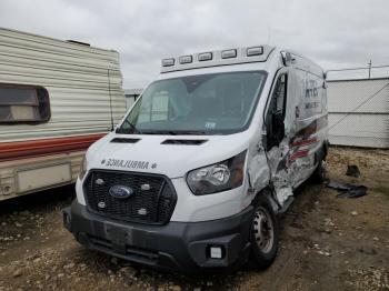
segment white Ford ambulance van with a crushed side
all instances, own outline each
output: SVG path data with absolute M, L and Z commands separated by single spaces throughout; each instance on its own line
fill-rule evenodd
M 66 228 L 88 248 L 158 268 L 259 268 L 277 214 L 323 178 L 323 71 L 259 46 L 162 60 L 114 132 L 88 150 Z

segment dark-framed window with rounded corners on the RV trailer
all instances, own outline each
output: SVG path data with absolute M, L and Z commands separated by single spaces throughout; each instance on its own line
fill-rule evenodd
M 46 122 L 49 93 L 42 87 L 0 83 L 0 123 Z

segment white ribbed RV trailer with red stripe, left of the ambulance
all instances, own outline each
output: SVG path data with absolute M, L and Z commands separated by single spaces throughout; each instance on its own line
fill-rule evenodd
M 74 182 L 124 111 L 118 52 L 0 28 L 0 200 Z

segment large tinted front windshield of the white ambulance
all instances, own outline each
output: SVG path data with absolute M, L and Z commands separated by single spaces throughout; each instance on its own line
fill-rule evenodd
M 151 83 L 118 133 L 229 134 L 245 130 L 265 71 L 188 76 Z

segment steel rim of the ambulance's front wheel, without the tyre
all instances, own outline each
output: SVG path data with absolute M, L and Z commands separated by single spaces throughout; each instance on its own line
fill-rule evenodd
M 263 253 L 270 252 L 275 241 L 275 229 L 269 212 L 265 208 L 259 208 L 252 223 L 259 250 Z

